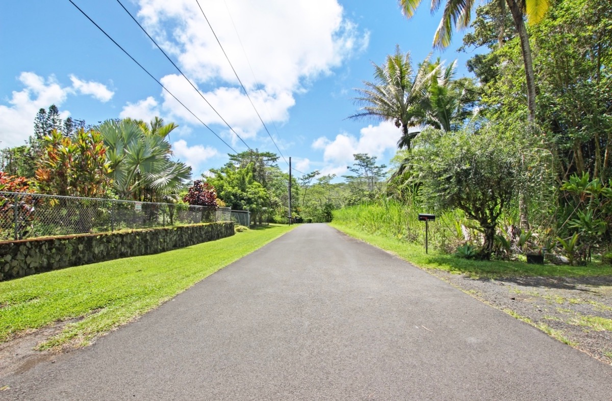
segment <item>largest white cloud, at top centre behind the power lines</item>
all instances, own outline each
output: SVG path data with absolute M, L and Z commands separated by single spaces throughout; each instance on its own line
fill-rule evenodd
M 255 136 L 262 129 L 261 121 L 198 4 L 192 0 L 138 3 L 138 16 L 147 31 L 176 57 L 218 113 L 245 139 Z M 363 51 L 369 41 L 367 32 L 345 18 L 337 0 L 269 0 L 266 7 L 237 0 L 200 4 L 266 124 L 286 121 L 295 93 Z M 224 125 L 182 76 L 168 75 L 161 82 L 204 123 Z M 171 117 L 200 123 L 170 95 L 162 96 L 162 107 Z

